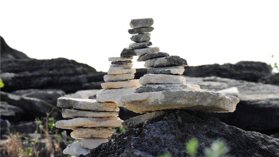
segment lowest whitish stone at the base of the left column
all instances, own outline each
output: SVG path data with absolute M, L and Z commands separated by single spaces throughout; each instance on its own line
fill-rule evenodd
M 90 153 L 90 149 L 82 147 L 80 142 L 74 142 L 69 148 L 64 149 L 63 153 L 70 154 L 71 156 L 86 155 Z

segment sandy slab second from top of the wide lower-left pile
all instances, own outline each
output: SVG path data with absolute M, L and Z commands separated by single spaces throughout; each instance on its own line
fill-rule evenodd
M 62 108 L 63 118 L 79 118 L 79 117 L 117 117 L 116 112 L 100 112 L 100 111 L 89 111 L 89 110 L 76 110 Z

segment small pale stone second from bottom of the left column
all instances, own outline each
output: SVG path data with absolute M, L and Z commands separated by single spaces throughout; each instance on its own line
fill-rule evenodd
M 106 138 L 83 138 L 80 140 L 80 145 L 83 148 L 94 149 L 102 143 L 108 142 Z

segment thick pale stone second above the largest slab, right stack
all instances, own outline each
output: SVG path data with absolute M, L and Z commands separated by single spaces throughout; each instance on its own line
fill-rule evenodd
M 186 84 L 186 79 L 178 75 L 146 74 L 139 78 L 139 84 Z

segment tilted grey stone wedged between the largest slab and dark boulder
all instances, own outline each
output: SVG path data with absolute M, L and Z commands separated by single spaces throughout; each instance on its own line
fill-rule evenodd
M 124 122 L 122 122 L 122 125 L 127 129 L 140 128 L 140 127 L 143 126 L 143 124 L 147 120 L 153 120 L 153 119 L 162 117 L 164 115 L 165 115 L 165 111 L 149 112 L 149 113 L 139 115 L 139 116 L 136 116 L 136 117 L 132 117 L 128 120 L 125 120 Z

